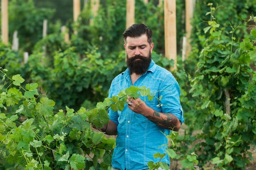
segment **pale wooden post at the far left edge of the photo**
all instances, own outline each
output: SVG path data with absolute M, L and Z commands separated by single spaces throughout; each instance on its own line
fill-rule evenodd
M 9 43 L 8 32 L 8 0 L 1 0 L 1 35 L 4 44 Z

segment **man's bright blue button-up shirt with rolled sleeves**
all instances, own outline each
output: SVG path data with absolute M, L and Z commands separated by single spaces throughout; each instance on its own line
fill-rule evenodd
M 109 97 L 116 96 L 121 90 L 132 85 L 129 69 L 119 74 L 111 83 Z M 182 106 L 180 105 L 180 87 L 174 76 L 168 70 L 156 65 L 151 60 L 147 72 L 141 75 L 134 86 L 146 86 L 160 100 L 162 107 L 157 107 L 159 102 L 154 97 L 153 101 L 146 100 L 146 105 L 162 113 L 172 113 L 184 122 Z M 141 100 L 145 100 L 141 97 Z M 167 149 L 168 139 L 165 135 L 170 130 L 157 126 L 146 117 L 131 111 L 127 104 L 123 111 L 109 109 L 109 118 L 117 124 L 116 147 L 112 157 L 112 167 L 121 170 L 148 169 L 149 161 L 158 162 L 153 155 L 164 154 Z M 161 160 L 170 164 L 168 155 Z

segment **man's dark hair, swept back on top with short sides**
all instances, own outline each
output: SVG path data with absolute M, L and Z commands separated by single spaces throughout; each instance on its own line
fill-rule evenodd
M 126 44 L 127 37 L 140 37 L 144 34 L 146 34 L 148 37 L 148 44 L 151 44 L 153 42 L 151 29 L 144 24 L 133 24 L 132 26 L 128 27 L 123 33 L 124 43 Z

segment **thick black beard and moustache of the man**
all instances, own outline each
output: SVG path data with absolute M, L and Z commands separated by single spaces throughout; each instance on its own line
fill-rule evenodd
M 139 60 L 136 60 L 139 59 Z M 141 55 L 136 55 L 134 57 L 128 58 L 126 64 L 130 70 L 130 73 L 135 74 L 144 74 L 150 65 L 151 62 L 151 53 L 149 52 L 148 57 L 143 57 Z

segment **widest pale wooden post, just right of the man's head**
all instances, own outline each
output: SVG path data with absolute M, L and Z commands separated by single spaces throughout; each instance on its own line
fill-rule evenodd
M 176 0 L 164 0 L 165 56 L 174 60 L 171 70 L 177 69 Z

